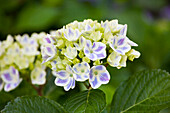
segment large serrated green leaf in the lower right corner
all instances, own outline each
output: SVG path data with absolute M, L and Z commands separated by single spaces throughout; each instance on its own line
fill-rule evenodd
M 142 71 L 116 90 L 111 113 L 157 113 L 170 106 L 170 74 L 162 70 Z

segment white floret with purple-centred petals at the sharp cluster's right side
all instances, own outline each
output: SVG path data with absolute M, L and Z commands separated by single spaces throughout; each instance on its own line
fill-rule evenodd
M 121 55 L 125 55 L 131 49 L 131 46 L 127 43 L 126 36 L 123 35 L 114 36 L 109 45 L 115 52 Z

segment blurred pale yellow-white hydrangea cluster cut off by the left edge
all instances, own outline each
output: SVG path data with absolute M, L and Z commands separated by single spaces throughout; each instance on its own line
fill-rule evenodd
M 40 45 L 45 33 L 33 33 L 12 37 L 7 36 L 0 42 L 0 90 L 11 91 L 15 89 L 24 76 L 30 74 L 32 84 L 44 84 L 46 79 L 45 66 L 41 64 Z M 34 63 L 35 62 L 35 63 Z

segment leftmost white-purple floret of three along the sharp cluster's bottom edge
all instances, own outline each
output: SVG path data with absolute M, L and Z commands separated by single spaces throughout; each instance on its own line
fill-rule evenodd
M 57 86 L 63 86 L 65 91 L 73 89 L 75 87 L 75 73 L 71 66 L 67 65 L 66 70 L 59 72 L 53 72 L 56 75 L 55 84 Z

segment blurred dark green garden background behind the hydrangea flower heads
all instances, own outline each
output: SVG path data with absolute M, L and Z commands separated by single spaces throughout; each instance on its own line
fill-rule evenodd
M 98 21 L 118 19 L 120 24 L 127 24 L 128 37 L 139 45 L 135 49 L 141 52 L 141 57 L 134 62 L 128 61 L 127 67 L 120 70 L 108 67 L 112 79 L 109 84 L 100 88 L 106 93 L 108 104 L 115 89 L 128 76 L 144 69 L 160 68 L 170 72 L 170 1 L 168 0 L 0 1 L 0 40 L 6 39 L 7 34 L 49 32 L 74 20 L 83 21 L 88 18 Z M 53 83 L 52 80 L 51 82 Z M 23 84 L 26 83 L 21 85 Z M 20 90 L 21 85 L 16 90 Z M 53 89 L 49 92 L 45 89 L 44 95 L 62 103 L 65 97 L 63 89 L 54 84 L 47 84 L 44 88 L 49 87 Z M 31 91 L 29 88 L 28 90 Z M 78 90 L 69 91 L 67 95 Z M 15 95 L 16 92 L 12 91 L 11 94 Z M 25 94 L 21 92 L 17 96 Z

